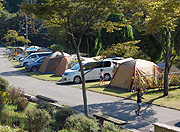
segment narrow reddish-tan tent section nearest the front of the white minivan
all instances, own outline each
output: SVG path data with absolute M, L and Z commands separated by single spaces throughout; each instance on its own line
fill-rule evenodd
M 59 63 L 54 75 L 61 76 L 66 69 L 68 69 L 68 66 L 72 60 L 72 56 L 63 57 L 61 62 Z

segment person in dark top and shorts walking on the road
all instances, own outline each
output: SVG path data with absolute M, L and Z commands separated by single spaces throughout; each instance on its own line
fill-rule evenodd
M 138 104 L 138 109 L 135 111 L 137 116 L 141 116 L 140 111 L 141 111 L 141 99 L 144 99 L 143 97 L 143 92 L 142 92 L 142 88 L 137 89 L 137 104 Z

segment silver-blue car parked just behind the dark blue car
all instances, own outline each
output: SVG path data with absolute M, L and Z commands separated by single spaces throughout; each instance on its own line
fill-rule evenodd
M 35 60 L 37 60 L 38 58 L 42 57 L 42 56 L 48 56 L 49 54 L 51 54 L 51 52 L 37 52 L 37 53 L 32 53 L 29 56 L 20 59 L 19 61 L 19 66 L 25 66 L 27 63 L 31 63 L 34 62 Z

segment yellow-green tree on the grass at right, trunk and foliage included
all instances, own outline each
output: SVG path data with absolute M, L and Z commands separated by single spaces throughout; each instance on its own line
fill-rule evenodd
M 177 0 L 119 0 L 119 9 L 139 31 L 152 34 L 159 42 L 166 62 L 164 95 L 168 95 L 168 74 L 180 44 L 175 49 L 180 30 L 180 2 Z M 162 31 L 164 33 L 162 33 Z M 173 50 L 176 50 L 174 53 Z

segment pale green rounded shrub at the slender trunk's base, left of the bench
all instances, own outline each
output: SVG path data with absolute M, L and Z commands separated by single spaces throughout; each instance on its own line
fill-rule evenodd
M 78 132 L 97 132 L 99 130 L 98 123 L 83 114 L 74 114 L 67 118 L 65 127 Z

